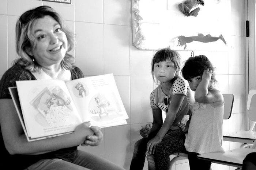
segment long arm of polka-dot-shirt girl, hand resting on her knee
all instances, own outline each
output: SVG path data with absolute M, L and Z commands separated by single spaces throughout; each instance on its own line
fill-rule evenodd
M 155 148 L 157 144 L 162 141 L 163 137 L 170 129 L 170 126 L 173 124 L 174 119 L 176 118 L 176 114 L 180 109 L 181 103 L 184 98 L 185 95 L 173 95 L 172 101 L 169 106 L 168 114 L 166 115 L 165 121 L 163 122 L 161 129 L 158 131 L 157 135 L 147 143 L 148 153 L 155 153 Z

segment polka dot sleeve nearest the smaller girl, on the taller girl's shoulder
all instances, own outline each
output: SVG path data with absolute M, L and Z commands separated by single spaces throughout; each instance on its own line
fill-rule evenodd
M 187 96 L 187 92 L 188 92 L 188 83 L 186 82 L 186 80 L 182 77 L 178 77 L 174 83 L 173 83 L 173 95 L 175 94 L 184 94 L 185 96 Z

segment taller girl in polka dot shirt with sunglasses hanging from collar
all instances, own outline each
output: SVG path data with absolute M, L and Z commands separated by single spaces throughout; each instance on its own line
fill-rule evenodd
M 143 169 L 146 154 L 149 170 L 169 170 L 169 156 L 184 150 L 185 133 L 178 122 L 191 115 L 194 96 L 180 76 L 181 67 L 180 55 L 169 48 L 157 51 L 152 59 L 152 76 L 159 84 L 150 94 L 153 126 L 140 130 L 143 138 L 135 143 L 130 170 Z M 166 113 L 164 122 L 162 111 Z

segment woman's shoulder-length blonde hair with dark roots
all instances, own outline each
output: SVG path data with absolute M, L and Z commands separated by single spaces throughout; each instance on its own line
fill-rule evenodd
M 61 61 L 61 68 L 72 70 L 75 65 L 75 59 L 72 55 L 68 54 L 68 52 L 74 49 L 74 34 L 65 28 L 61 16 L 49 6 L 40 6 L 31 9 L 19 17 L 18 21 L 16 22 L 16 52 L 20 58 L 14 62 L 18 62 L 18 64 L 25 66 L 26 69 L 30 70 L 31 72 L 41 70 L 41 66 L 36 61 L 33 61 L 33 56 L 29 54 L 29 51 L 35 49 L 37 42 L 33 32 L 35 23 L 38 19 L 45 16 L 53 17 L 53 19 L 60 24 L 62 31 L 67 36 L 68 50 L 64 56 L 64 59 Z

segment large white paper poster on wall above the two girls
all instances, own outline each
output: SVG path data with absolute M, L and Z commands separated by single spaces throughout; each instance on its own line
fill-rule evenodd
M 200 8 L 196 16 L 181 12 L 179 4 L 184 2 L 132 0 L 133 45 L 140 50 L 226 51 L 230 1 L 204 1 L 195 7 Z

